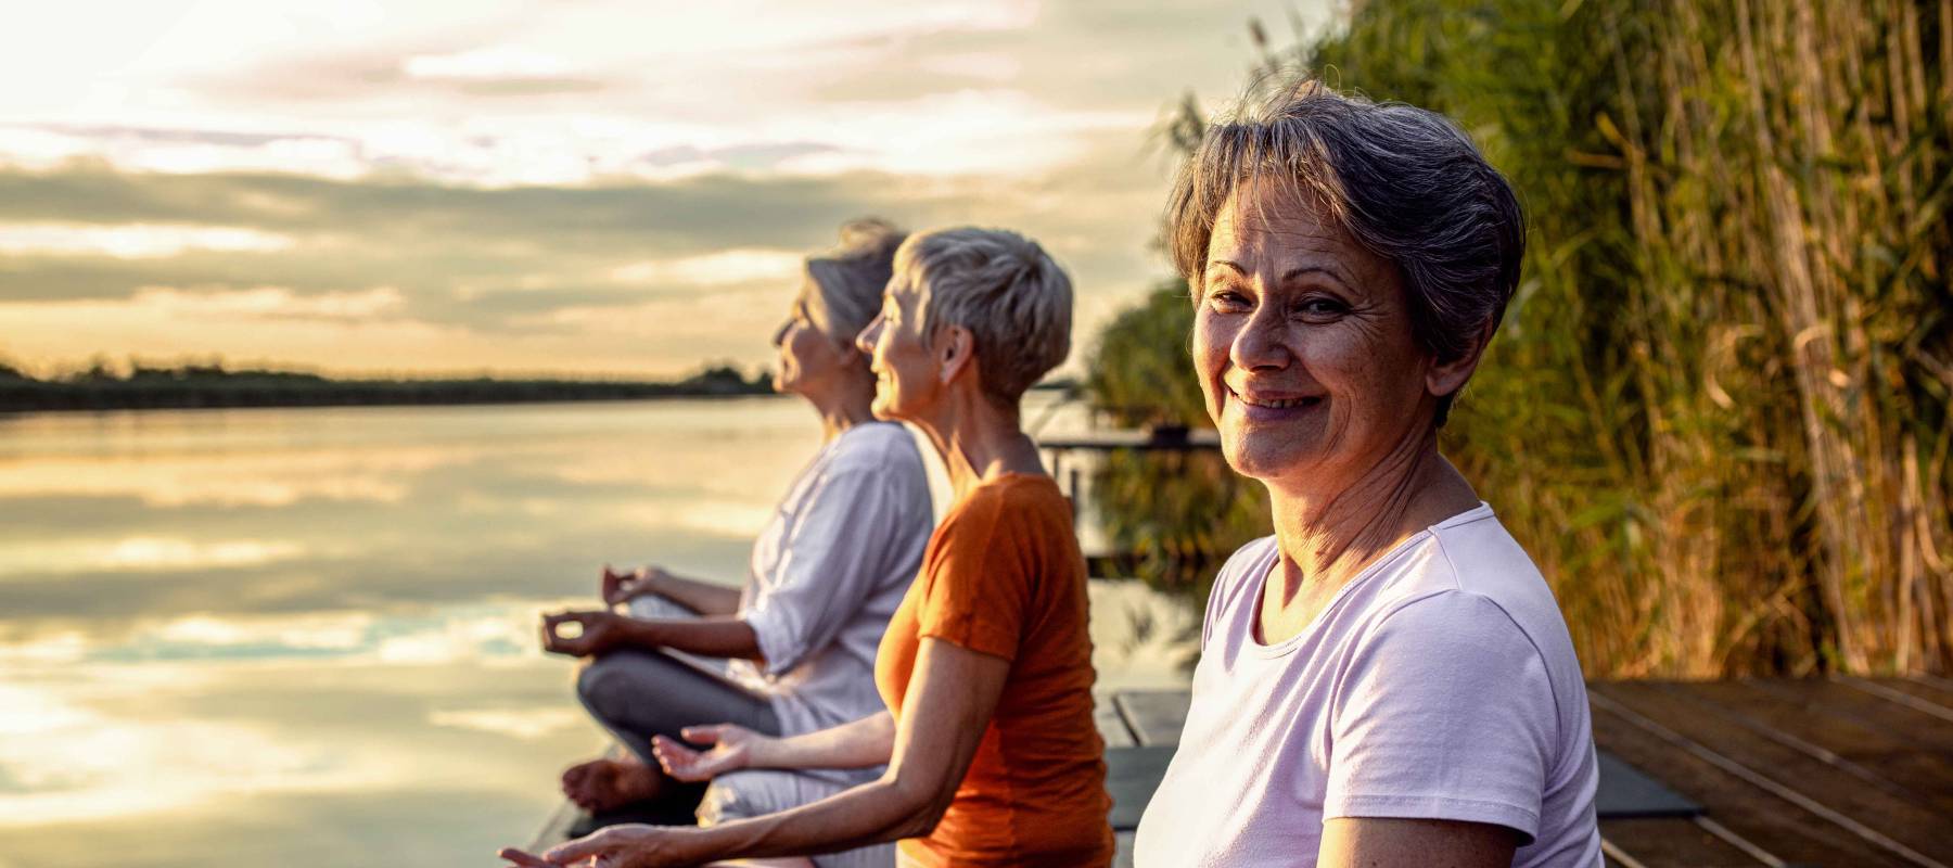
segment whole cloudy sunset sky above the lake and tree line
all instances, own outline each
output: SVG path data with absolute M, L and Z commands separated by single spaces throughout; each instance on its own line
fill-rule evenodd
M 1029 233 L 1090 332 L 1187 90 L 1324 2 L 145 0 L 0 31 L 0 360 L 756 366 L 857 215 Z M 1137 12 L 1143 10 L 1143 12 Z M 1080 340 L 1090 346 L 1090 336 Z

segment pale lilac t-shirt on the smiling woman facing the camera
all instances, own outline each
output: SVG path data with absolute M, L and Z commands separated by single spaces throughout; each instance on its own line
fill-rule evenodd
M 1496 823 L 1523 835 L 1517 868 L 1601 864 L 1580 663 L 1490 506 L 1404 540 L 1264 645 L 1256 600 L 1277 555 L 1256 540 L 1215 579 L 1139 868 L 1312 866 L 1336 817 Z

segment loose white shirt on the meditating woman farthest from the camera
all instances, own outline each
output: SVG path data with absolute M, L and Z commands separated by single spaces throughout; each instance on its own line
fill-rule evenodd
M 771 698 L 783 735 L 885 710 L 875 649 L 934 530 L 922 454 L 896 422 L 844 430 L 787 487 L 754 542 L 738 604 L 766 667 L 728 665 Z

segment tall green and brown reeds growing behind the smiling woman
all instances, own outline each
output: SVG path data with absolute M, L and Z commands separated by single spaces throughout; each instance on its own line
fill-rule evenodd
M 1449 113 L 1517 186 L 1525 282 L 1445 454 L 1592 674 L 1953 671 L 1953 0 L 1371 0 L 1260 33 L 1269 68 Z M 1109 412 L 1207 424 L 1162 385 L 1191 387 L 1172 307 L 1103 338 Z M 1267 532 L 1238 500 L 1146 524 L 1225 500 L 1205 471 L 1100 491 L 1115 543 L 1211 542 L 1148 567 L 1168 586 Z

